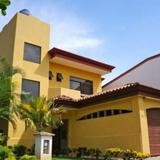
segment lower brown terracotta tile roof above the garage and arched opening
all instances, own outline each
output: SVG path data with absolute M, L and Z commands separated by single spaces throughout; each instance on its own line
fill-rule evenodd
M 133 96 L 137 94 L 143 94 L 155 96 L 160 98 L 160 90 L 141 85 L 139 83 L 130 83 L 124 86 L 105 90 L 94 95 L 83 96 L 80 99 L 73 99 L 68 96 L 58 96 L 53 98 L 57 103 L 68 105 L 71 107 L 84 107 L 91 104 L 101 103 L 105 101 L 111 101 L 123 97 Z

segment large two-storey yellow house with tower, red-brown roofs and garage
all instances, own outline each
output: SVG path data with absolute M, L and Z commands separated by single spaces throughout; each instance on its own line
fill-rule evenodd
M 51 128 L 56 133 L 54 150 L 120 147 L 160 153 L 160 136 L 153 134 L 160 126 L 160 90 L 132 83 L 102 91 L 102 75 L 114 67 L 58 48 L 49 50 L 49 34 L 48 24 L 24 11 L 17 13 L 0 32 L 0 55 L 25 71 L 25 78 L 13 77 L 19 93 L 45 95 L 67 109 L 64 125 Z M 21 120 L 17 126 L 13 130 L 0 120 L 7 144 L 31 147 L 33 131 Z

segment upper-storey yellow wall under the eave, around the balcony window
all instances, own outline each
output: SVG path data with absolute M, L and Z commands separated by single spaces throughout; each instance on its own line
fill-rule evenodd
M 83 70 L 78 70 L 71 67 L 66 67 L 60 64 L 51 63 L 49 64 L 49 69 L 53 73 L 53 79 L 49 81 L 49 88 L 70 88 L 70 76 L 79 77 L 87 80 L 93 81 L 93 92 L 97 93 L 102 90 L 101 88 L 101 75 L 86 72 Z M 62 73 L 62 82 L 56 81 L 56 73 Z

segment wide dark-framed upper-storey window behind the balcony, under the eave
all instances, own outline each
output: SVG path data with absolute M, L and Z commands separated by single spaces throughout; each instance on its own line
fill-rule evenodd
M 82 94 L 93 94 L 93 82 L 77 77 L 70 77 L 70 88 Z

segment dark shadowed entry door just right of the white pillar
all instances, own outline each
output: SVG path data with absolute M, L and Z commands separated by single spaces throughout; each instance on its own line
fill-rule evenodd
M 62 153 L 68 148 L 68 120 L 63 120 L 63 125 L 53 130 L 53 153 Z

